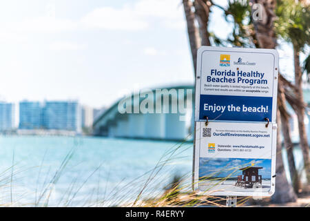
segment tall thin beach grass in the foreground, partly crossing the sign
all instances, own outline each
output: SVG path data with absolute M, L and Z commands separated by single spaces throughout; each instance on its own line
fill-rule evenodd
M 34 191 L 25 191 L 23 193 L 16 193 L 14 181 L 23 178 L 21 175 L 23 171 L 34 168 L 19 167 L 19 162 L 14 162 L 13 151 L 12 166 L 0 173 L 0 196 L 6 195 L 5 198 L 0 198 L 0 206 L 225 206 L 226 197 L 210 194 L 221 182 L 236 177 L 236 173 L 240 169 L 240 166 L 227 167 L 214 171 L 214 173 L 206 177 L 201 177 L 198 182 L 212 181 L 214 184 L 203 193 L 196 193 L 192 190 L 192 173 L 176 172 L 171 167 L 172 164 L 186 157 L 183 153 L 192 148 L 192 144 L 185 140 L 168 148 L 158 159 L 154 168 L 133 180 L 121 179 L 112 190 L 107 190 L 109 174 L 105 176 L 104 180 L 101 179 L 102 164 L 100 164 L 94 171 L 86 175 L 83 182 L 78 182 L 79 177 L 74 177 L 70 184 L 66 186 L 65 191 L 61 193 L 61 196 L 56 200 L 51 200 L 55 192 L 55 186 L 72 166 L 69 162 L 72 160 L 76 148 L 77 146 L 74 146 L 63 157 L 59 167 L 52 175 L 49 174 L 50 169 L 48 172 L 43 173 L 45 152 L 41 165 L 35 167 L 35 169 L 38 169 L 37 186 L 35 186 Z M 242 167 L 246 166 L 251 165 L 242 165 Z M 218 177 L 217 175 L 223 170 L 229 171 L 229 175 L 227 177 Z M 107 171 L 107 173 L 110 172 Z M 96 188 L 92 189 L 87 197 L 81 198 L 79 196 L 81 189 L 94 175 L 98 177 Z M 42 177 L 45 177 L 44 182 L 39 183 L 39 178 Z M 26 198 L 34 198 L 34 200 L 27 201 Z M 238 198 L 238 206 L 245 205 L 249 198 Z

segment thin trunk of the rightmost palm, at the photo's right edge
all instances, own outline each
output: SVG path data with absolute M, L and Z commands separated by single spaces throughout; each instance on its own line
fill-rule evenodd
M 300 102 L 304 102 L 304 96 L 302 93 L 302 72 L 300 69 L 300 57 L 299 57 L 299 48 L 293 46 L 294 53 L 294 70 L 295 70 L 295 94 L 296 99 Z M 306 171 L 307 180 L 310 180 L 310 160 L 309 160 L 309 144 L 307 140 L 307 133 L 304 126 L 304 105 L 298 106 L 296 108 L 296 114 L 298 119 L 298 130 L 299 130 L 299 140 L 300 148 L 302 149 L 302 157 L 304 160 L 304 170 Z

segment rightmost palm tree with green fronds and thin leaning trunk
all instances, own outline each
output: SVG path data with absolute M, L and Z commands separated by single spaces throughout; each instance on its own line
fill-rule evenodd
M 310 158 L 307 133 L 304 126 L 304 112 L 306 105 L 302 92 L 302 69 L 300 67 L 300 51 L 304 45 L 310 43 L 310 6 L 304 6 L 301 2 L 294 0 L 279 1 L 277 15 L 279 17 L 276 23 L 278 34 L 285 40 L 293 44 L 293 63 L 295 70 L 295 82 L 292 88 L 296 100 L 299 104 L 291 104 L 298 118 L 298 130 L 300 138 L 300 147 L 304 160 L 304 169 L 307 174 L 307 180 L 310 180 Z

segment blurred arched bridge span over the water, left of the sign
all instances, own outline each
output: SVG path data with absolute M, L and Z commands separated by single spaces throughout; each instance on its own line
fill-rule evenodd
M 94 135 L 185 140 L 193 131 L 194 86 L 143 90 L 119 99 L 93 124 Z

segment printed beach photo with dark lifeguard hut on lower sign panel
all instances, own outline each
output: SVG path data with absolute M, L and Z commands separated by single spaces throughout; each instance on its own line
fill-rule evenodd
M 198 186 L 201 191 L 268 192 L 271 160 L 201 157 Z

